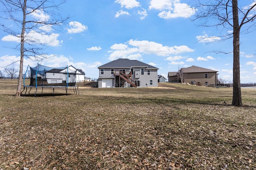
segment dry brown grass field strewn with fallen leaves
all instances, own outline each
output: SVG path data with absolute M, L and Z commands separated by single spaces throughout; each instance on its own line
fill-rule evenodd
M 38 88 L 0 81 L 0 169 L 253 170 L 256 89 Z

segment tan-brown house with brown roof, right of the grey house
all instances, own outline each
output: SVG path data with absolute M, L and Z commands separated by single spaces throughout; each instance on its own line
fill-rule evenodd
M 218 80 L 217 72 L 218 71 L 210 70 L 207 68 L 190 66 L 188 68 L 181 68 L 177 73 L 177 78 L 182 83 L 195 84 L 198 86 L 206 87 L 216 86 Z

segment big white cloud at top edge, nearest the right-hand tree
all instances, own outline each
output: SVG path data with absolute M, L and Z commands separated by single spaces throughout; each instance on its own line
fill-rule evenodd
M 180 3 L 180 0 L 151 0 L 149 9 L 160 10 L 160 18 L 188 18 L 195 14 L 196 9 L 191 8 L 188 4 Z

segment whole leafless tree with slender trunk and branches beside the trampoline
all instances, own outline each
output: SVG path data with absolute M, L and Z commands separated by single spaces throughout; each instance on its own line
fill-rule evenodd
M 18 87 L 16 96 L 21 94 L 23 60 L 28 57 L 32 60 L 41 60 L 46 58 L 44 48 L 49 42 L 42 42 L 35 35 L 49 35 L 47 29 L 56 29 L 54 26 L 61 26 L 68 18 L 62 18 L 59 7 L 66 0 L 0 0 L 6 20 L 12 20 L 18 30 L 8 25 L 3 25 L 2 29 L 9 35 L 19 39 L 20 44 L 14 49 L 20 51 L 20 70 L 18 76 Z M 44 15 L 44 18 L 38 16 Z

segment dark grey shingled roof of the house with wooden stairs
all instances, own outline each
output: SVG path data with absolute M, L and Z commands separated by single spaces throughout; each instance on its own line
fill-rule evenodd
M 117 59 L 109 63 L 103 64 L 98 68 L 131 68 L 131 67 L 147 67 L 150 69 L 159 69 L 146 63 L 142 63 L 138 60 L 129 59 Z

